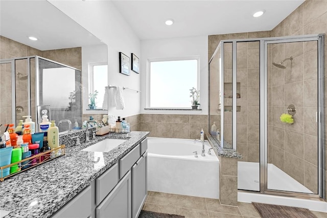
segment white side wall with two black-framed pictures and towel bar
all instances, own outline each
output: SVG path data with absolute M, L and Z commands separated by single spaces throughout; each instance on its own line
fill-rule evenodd
M 145 74 L 142 68 L 140 74 L 133 71 L 130 76 L 119 73 L 119 52 L 129 57 L 134 53 L 141 60 L 141 41 L 110 1 L 48 0 L 48 2 L 107 44 L 110 85 L 141 89 L 141 75 Z M 108 111 L 110 115 L 127 117 L 140 113 L 140 93 L 125 90 L 124 97 L 125 109 L 110 108 Z

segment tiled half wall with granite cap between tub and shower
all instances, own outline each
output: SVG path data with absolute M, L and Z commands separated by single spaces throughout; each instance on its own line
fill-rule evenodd
M 238 160 L 243 156 L 236 150 L 222 149 L 209 134 L 206 137 L 219 159 L 219 200 L 221 204 L 237 206 L 238 196 Z

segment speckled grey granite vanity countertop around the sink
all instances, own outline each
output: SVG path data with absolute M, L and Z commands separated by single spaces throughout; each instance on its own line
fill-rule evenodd
M 50 217 L 75 195 L 146 138 L 149 132 L 97 136 L 80 146 L 66 146 L 64 156 L 40 164 L 0 182 L 0 210 L 4 217 Z M 109 152 L 81 151 L 104 139 L 128 139 Z M 94 162 L 98 157 L 100 161 Z

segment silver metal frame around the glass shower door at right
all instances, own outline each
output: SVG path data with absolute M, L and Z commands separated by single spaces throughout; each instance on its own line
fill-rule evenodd
M 273 43 L 317 41 L 318 45 L 318 193 L 302 193 L 268 189 L 268 45 Z M 260 40 L 260 192 L 287 195 L 292 197 L 311 197 L 325 199 L 324 173 L 324 34 L 273 37 Z

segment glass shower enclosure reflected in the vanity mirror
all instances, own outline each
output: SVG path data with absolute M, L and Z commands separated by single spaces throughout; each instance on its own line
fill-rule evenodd
M 1 107 L 6 108 L 0 123 L 17 125 L 30 115 L 38 128 L 42 112 L 57 125 L 60 120 L 81 123 L 80 70 L 39 56 L 0 60 L 0 67 L 5 93 Z M 67 124 L 62 123 L 59 132 L 67 130 Z

